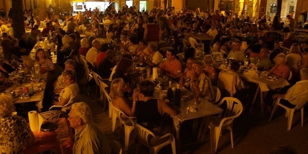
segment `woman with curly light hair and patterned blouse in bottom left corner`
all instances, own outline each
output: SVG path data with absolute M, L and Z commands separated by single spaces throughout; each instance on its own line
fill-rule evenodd
M 0 152 L 23 153 L 24 146 L 34 143 L 34 135 L 23 117 L 12 115 L 12 98 L 0 95 Z

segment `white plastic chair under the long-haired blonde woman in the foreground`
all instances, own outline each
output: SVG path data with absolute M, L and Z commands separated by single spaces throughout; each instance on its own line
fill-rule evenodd
M 123 111 L 118 109 L 117 107 L 112 107 L 112 132 L 114 132 L 115 129 L 115 123 L 117 122 L 117 118 L 120 120 L 120 128 L 122 127 L 122 124 L 124 124 L 124 132 L 125 132 L 125 141 L 124 141 L 124 150 L 128 150 L 128 143 L 129 143 L 129 135 L 130 132 L 134 129 L 132 119 L 135 119 L 135 117 L 128 117 Z M 123 119 L 130 120 L 130 123 L 125 122 Z

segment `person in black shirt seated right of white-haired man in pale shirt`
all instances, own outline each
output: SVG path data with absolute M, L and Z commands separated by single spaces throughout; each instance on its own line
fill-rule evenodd
M 114 67 L 112 63 L 114 55 L 115 52 L 113 50 L 108 50 L 106 52 L 106 59 L 104 59 L 98 66 L 98 74 L 103 79 L 108 79 L 112 72 L 112 68 Z

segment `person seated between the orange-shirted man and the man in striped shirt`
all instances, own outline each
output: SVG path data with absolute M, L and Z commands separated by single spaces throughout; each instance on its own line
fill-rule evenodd
M 190 57 L 187 60 L 186 63 L 186 68 L 184 70 L 184 73 L 181 74 L 181 78 L 180 78 L 180 86 L 181 87 L 189 87 L 190 86 L 190 73 L 192 71 L 192 64 L 194 64 L 194 62 L 196 62 L 196 58 L 195 57 Z

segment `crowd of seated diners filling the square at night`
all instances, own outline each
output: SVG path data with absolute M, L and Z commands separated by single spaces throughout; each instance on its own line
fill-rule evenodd
M 177 112 L 168 103 L 153 98 L 156 85 L 152 81 L 141 81 L 137 84 L 137 88 L 132 85 L 131 76 L 136 73 L 132 71 L 135 59 L 146 64 L 147 67 L 160 68 L 161 74 L 179 82 L 180 86 L 194 92 L 198 97 L 207 98 L 210 102 L 215 101 L 216 98 L 214 86 L 219 87 L 218 76 L 221 73 L 237 75 L 240 63 L 243 64 L 246 57 L 249 59 L 249 65 L 257 66 L 260 71 L 268 71 L 283 79 L 289 78 L 290 71 L 294 74 L 290 80 L 291 86 L 294 85 L 292 88 L 280 92 L 277 90 L 268 92 L 266 95 L 268 99 L 265 99 L 268 111 L 271 111 L 272 99 L 277 97 L 291 99 L 295 94 L 308 94 L 308 90 L 305 89 L 307 86 L 304 86 L 308 80 L 308 40 L 298 41 L 295 39 L 295 29 L 301 27 L 299 27 L 300 23 L 296 23 L 291 15 L 287 15 L 285 23 L 288 23 L 288 26 L 285 26 L 286 24 L 283 25 L 283 22 L 280 21 L 279 14 L 274 17 L 272 22 L 271 18 L 265 15 L 250 18 L 243 14 L 239 16 L 237 13 L 226 12 L 224 15 L 220 14 L 218 10 L 212 14 L 198 9 L 195 11 L 183 9 L 176 12 L 172 7 L 166 11 L 154 8 L 149 12 L 146 10 L 140 12 L 133 7 L 123 7 L 121 11 L 117 12 L 114 8 L 109 7 L 105 12 L 89 9 L 85 12 L 78 12 L 75 16 L 67 15 L 60 21 L 60 13 L 56 14 L 56 9 L 49 10 L 54 10 L 54 14 L 48 15 L 45 21 L 33 17 L 35 11 L 32 12 L 34 14 L 31 14 L 31 11 L 25 13 L 27 15 L 30 13 L 33 22 L 28 22 L 25 18 L 25 29 L 31 28 L 31 32 L 29 34 L 22 32 L 19 36 L 20 40 L 16 40 L 7 32 L 2 33 L 1 45 L 4 59 L 0 60 L 0 82 L 5 83 L 8 74 L 14 70 L 14 66 L 10 63 L 12 62 L 12 54 L 17 57 L 29 55 L 36 44 L 37 37 L 50 36 L 51 41 L 58 45 L 58 62 L 62 63 L 63 57 L 69 55 L 71 51 L 73 51 L 73 55 L 84 58 L 88 62 L 84 65 L 89 65 L 92 71 L 97 72 L 102 79 L 108 79 L 110 82 L 108 84 L 110 85 L 112 105 L 130 117 L 136 116 L 137 123 L 158 135 L 169 130 L 167 124 L 170 123 L 167 123 L 166 119 L 170 119 L 170 117 L 165 115 L 177 115 Z M 2 31 L 7 31 L 6 26 L 3 26 L 5 21 L 10 20 L 2 18 L 0 21 Z M 42 31 L 39 30 L 41 28 L 43 28 Z M 93 36 L 81 38 L 81 34 L 85 30 L 93 32 Z M 181 47 L 183 40 L 187 42 L 189 38 L 198 40 L 198 33 L 212 38 L 210 42 L 201 42 L 210 47 L 210 49 L 203 49 L 207 55 L 202 57 L 202 60 L 195 57 L 197 51 L 194 47 L 187 49 Z M 247 35 L 243 36 L 243 34 Z M 107 44 L 101 42 L 100 38 L 109 38 L 113 41 Z M 165 38 L 169 41 L 174 38 L 175 42 L 170 44 L 171 48 L 166 52 L 160 52 L 159 49 L 163 47 L 160 41 Z M 243 48 L 242 42 L 246 42 L 248 47 Z M 117 50 L 121 52 L 119 61 L 115 59 Z M 180 52 L 184 53 L 183 59 L 177 56 Z M 230 63 L 229 71 L 218 72 L 211 65 L 217 58 L 208 54 L 212 52 L 220 52 L 226 59 L 234 61 Z M 55 68 L 57 64 L 53 64 L 46 57 L 44 49 L 36 49 L 35 61 L 45 71 L 59 71 Z M 78 73 L 80 68 L 76 68 L 81 61 L 78 63 L 76 61 L 77 59 L 68 59 L 65 63 L 63 62 L 64 71 L 57 73 L 59 75 L 55 76 L 54 81 L 48 83 L 50 84 L 47 85 L 47 89 L 50 91 L 47 92 L 48 97 L 59 93 L 59 97 L 53 98 L 53 104 L 65 106 L 69 100 L 79 94 L 78 79 L 83 76 Z M 295 90 L 297 87 L 301 89 Z M 235 97 L 243 97 L 241 89 L 247 88 L 249 86 L 238 79 L 235 86 L 238 93 L 235 94 Z M 277 94 L 283 92 L 286 94 Z M 129 101 L 129 95 L 132 96 L 132 101 Z M 249 93 L 244 95 L 246 100 L 252 98 Z M 13 109 L 12 100 L 6 97 L 3 99 L 6 101 L 3 108 L 7 107 L 8 110 L 0 112 L 1 120 L 3 117 L 12 118 L 9 114 Z M 292 101 L 288 103 L 296 104 Z M 101 130 L 92 124 L 91 112 L 85 103 L 72 105 L 68 115 L 71 127 L 76 130 L 75 137 L 79 138 L 78 141 L 75 140 L 74 153 L 108 152 L 107 139 Z M 24 119 L 13 118 L 13 120 L 26 125 Z M 23 133 L 23 140 L 27 142 L 23 143 L 27 143 L 25 145 L 31 144 L 33 134 L 29 129 L 23 129 L 23 131 L 27 131 Z M 89 138 L 85 138 L 83 133 L 89 134 Z M 13 147 L 16 148 L 16 151 L 12 149 L 15 152 L 21 150 L 16 146 Z

